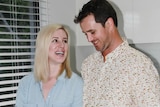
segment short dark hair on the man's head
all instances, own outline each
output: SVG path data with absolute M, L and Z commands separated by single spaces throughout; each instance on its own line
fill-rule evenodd
M 113 19 L 115 26 L 118 26 L 116 11 L 106 0 L 90 0 L 84 4 L 78 16 L 75 16 L 74 22 L 79 23 L 90 14 L 93 14 L 95 21 L 101 23 L 102 26 L 109 17 Z

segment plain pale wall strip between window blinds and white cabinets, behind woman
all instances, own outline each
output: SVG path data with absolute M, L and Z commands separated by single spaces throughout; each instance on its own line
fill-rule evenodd
M 71 39 L 71 67 L 77 72 L 76 68 L 76 24 L 73 20 L 76 14 L 76 0 L 48 0 L 48 23 L 61 23 L 69 26 Z M 79 36 L 79 35 L 78 35 Z

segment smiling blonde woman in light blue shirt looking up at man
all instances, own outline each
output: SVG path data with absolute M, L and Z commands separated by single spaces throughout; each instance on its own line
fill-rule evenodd
M 69 64 L 69 33 L 47 25 L 36 40 L 34 73 L 19 83 L 16 107 L 82 107 L 83 81 Z

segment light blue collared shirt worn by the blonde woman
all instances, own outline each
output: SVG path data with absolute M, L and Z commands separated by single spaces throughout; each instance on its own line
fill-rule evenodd
M 19 83 L 15 107 L 82 107 L 82 95 L 82 78 L 72 72 L 68 79 L 63 72 L 45 100 L 41 82 L 36 82 L 31 73 Z

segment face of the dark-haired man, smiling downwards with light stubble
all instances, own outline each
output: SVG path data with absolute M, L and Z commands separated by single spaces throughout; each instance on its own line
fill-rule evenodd
M 105 51 L 110 43 L 110 35 L 107 26 L 95 21 L 94 16 L 88 15 L 80 22 L 82 32 L 86 35 L 97 51 Z

